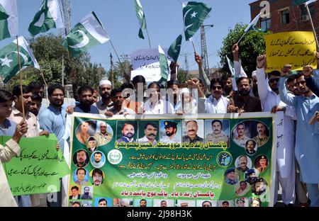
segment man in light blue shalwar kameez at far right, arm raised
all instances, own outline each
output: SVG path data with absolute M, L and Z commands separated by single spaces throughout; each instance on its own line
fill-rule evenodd
M 303 72 L 307 71 L 307 69 L 304 69 Z M 319 206 L 319 173 L 313 173 L 313 169 L 319 168 L 319 149 L 318 145 L 315 145 L 319 143 L 319 136 L 313 132 L 313 125 L 308 124 L 315 111 L 319 110 L 319 98 L 306 86 L 306 80 L 302 74 L 298 74 L 296 77 L 296 86 L 303 96 L 292 97 L 289 95 L 284 85 L 284 77 L 288 73 L 288 68 L 284 67 L 281 70 L 279 95 L 287 106 L 293 106 L 296 109 L 296 135 L 298 136 L 296 136 L 295 156 L 300 165 L 302 181 L 307 186 L 308 197 L 311 201 L 310 206 Z M 307 75 L 307 73 L 305 74 Z M 292 184 L 294 185 L 294 183 Z

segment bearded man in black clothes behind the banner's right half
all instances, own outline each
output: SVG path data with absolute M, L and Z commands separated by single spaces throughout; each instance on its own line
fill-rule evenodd
M 261 112 L 262 105 L 259 98 L 250 96 L 251 79 L 240 77 L 236 81 L 238 94 L 234 94 L 228 103 L 228 113 Z

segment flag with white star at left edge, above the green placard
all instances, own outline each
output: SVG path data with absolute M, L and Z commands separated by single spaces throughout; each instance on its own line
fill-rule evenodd
M 40 69 L 32 50 L 30 50 L 28 42 L 26 42 L 26 39 L 23 38 L 23 36 L 18 37 L 18 45 L 21 70 L 26 69 L 28 66 Z M 16 39 L 0 50 L 0 64 L 0 75 L 1 78 L 4 79 L 4 83 L 7 83 L 12 77 L 18 74 L 19 64 Z

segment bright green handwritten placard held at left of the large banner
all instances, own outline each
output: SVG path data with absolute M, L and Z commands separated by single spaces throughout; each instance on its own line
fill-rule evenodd
M 1 137 L 4 145 L 11 137 Z M 57 137 L 22 137 L 21 154 L 4 164 L 13 196 L 60 191 L 60 179 L 69 174 Z

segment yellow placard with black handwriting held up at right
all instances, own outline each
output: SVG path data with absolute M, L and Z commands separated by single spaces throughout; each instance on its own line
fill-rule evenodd
M 267 72 L 280 71 L 284 64 L 292 70 L 304 66 L 317 67 L 315 36 L 309 31 L 293 31 L 266 35 Z

